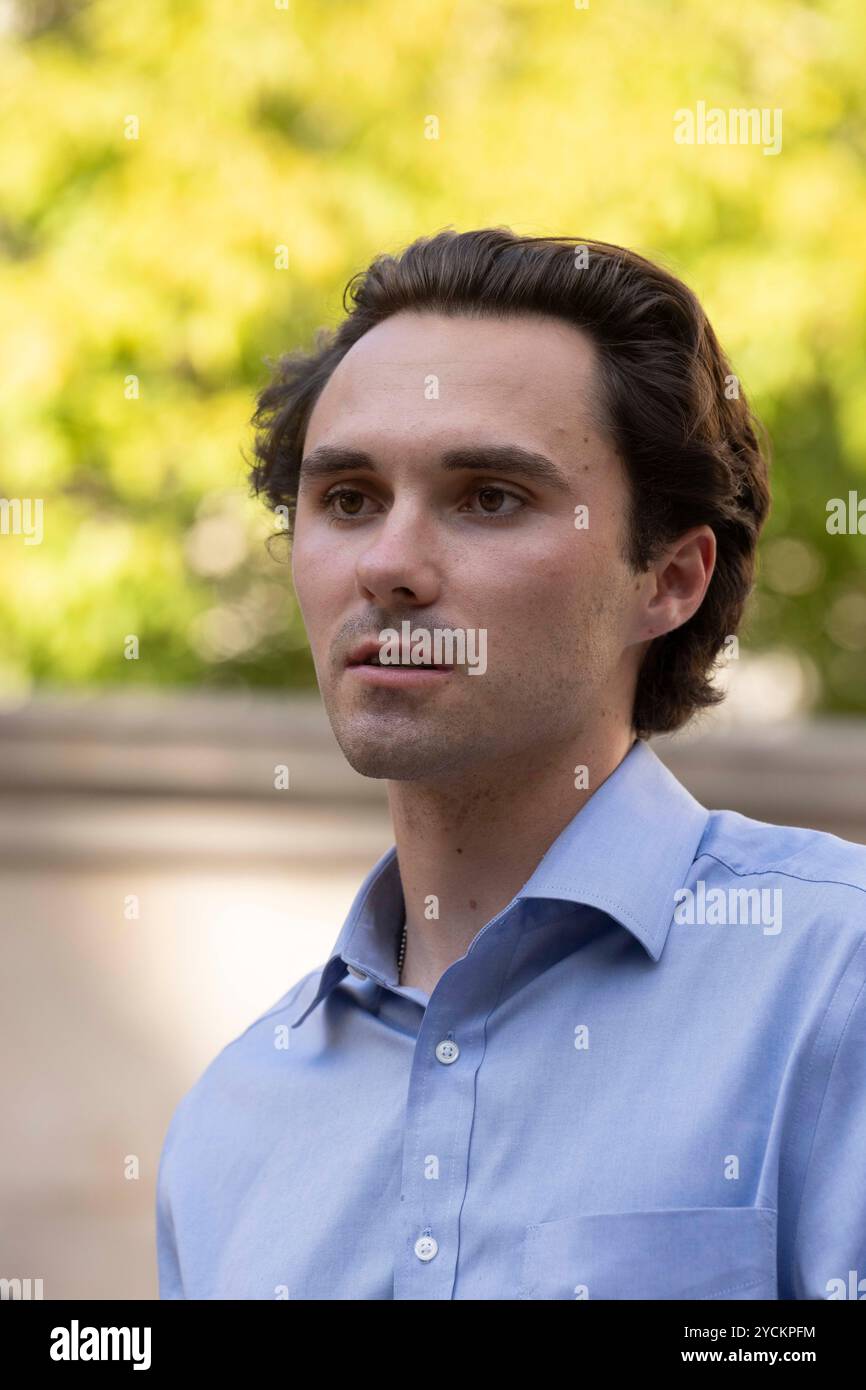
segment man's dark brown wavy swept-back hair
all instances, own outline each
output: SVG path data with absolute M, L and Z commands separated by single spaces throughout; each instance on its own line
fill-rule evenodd
M 350 300 L 350 303 L 349 303 Z M 259 393 L 253 491 L 293 530 L 307 423 L 331 373 L 375 324 L 400 310 L 546 314 L 582 329 L 596 352 L 595 410 L 630 480 L 627 560 L 645 570 L 689 527 L 709 525 L 716 567 L 696 613 L 656 637 L 635 688 L 641 738 L 669 733 L 723 694 L 710 674 L 737 632 L 770 506 L 769 449 L 695 295 L 635 252 L 509 228 L 441 231 L 378 256 L 343 292 L 346 318 L 313 350 L 289 352 Z M 759 434 L 762 443 L 759 443 Z

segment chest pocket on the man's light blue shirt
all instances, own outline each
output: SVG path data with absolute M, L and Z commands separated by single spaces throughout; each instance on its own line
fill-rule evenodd
M 680 1207 L 527 1226 L 518 1298 L 776 1298 L 776 1212 Z

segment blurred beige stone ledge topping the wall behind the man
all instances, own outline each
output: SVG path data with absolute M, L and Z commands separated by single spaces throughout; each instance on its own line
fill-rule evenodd
M 652 746 L 710 808 L 866 842 L 866 724 L 859 720 L 733 728 L 706 723 L 656 738 Z M 289 770 L 285 791 L 274 785 L 279 764 Z M 51 798 L 61 798 L 56 810 L 49 809 Z M 189 809 L 178 805 L 171 819 L 172 802 Z M 163 844 L 171 852 L 168 826 L 178 830 L 183 817 L 190 821 L 196 803 L 202 815 L 203 802 L 224 848 L 238 840 L 221 828 L 238 816 L 232 803 L 249 803 L 249 813 L 260 819 L 247 842 L 267 844 L 268 856 L 285 837 L 289 809 L 342 808 L 348 840 L 363 806 L 386 813 L 385 783 L 361 777 L 346 763 L 317 695 L 42 695 L 0 710 L 0 828 L 7 856 L 11 845 L 24 852 L 28 837 L 38 840 L 40 819 L 47 837 L 65 817 L 67 838 L 82 847 L 83 827 L 81 834 L 75 830 L 75 816 L 89 821 L 88 834 L 96 833 L 97 820 L 107 833 L 113 817 L 129 819 L 132 803 L 142 826 L 150 827 L 152 851 L 161 852 Z M 242 830 L 238 834 L 243 838 Z M 60 853 L 63 835 L 50 838 Z M 114 838 L 120 848 L 124 837 Z M 111 841 L 106 834 L 104 842 Z M 189 851 L 192 838 L 181 834 L 179 842 Z

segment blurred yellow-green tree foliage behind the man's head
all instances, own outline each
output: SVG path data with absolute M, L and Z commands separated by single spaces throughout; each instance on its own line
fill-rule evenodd
M 0 535 L 3 692 L 313 684 L 246 485 L 267 360 L 493 224 L 696 291 L 773 441 L 744 653 L 866 712 L 827 532 L 866 493 L 865 36 L 860 0 L 0 0 L 0 496 L 44 499 Z M 781 152 L 677 145 L 698 101 L 781 108 Z

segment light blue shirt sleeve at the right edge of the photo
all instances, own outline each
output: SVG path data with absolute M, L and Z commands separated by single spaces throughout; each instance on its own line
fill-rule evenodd
M 866 942 L 835 992 L 794 1236 L 795 1298 L 866 1298 Z M 835 1044 L 833 1042 L 835 1037 Z

